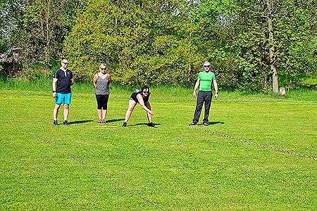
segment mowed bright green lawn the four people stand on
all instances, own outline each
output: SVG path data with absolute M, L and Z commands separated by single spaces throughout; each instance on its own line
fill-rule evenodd
M 317 210 L 317 160 L 211 133 L 317 158 L 316 91 L 220 92 L 194 129 L 191 94 L 154 89 L 156 128 L 140 106 L 123 128 L 130 91 L 97 124 L 93 92 L 73 89 L 70 126 L 54 127 L 50 91 L 1 89 L 0 210 Z

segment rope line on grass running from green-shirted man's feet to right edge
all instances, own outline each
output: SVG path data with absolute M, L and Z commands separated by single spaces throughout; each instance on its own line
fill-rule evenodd
M 192 129 L 196 129 L 196 130 L 200 130 L 200 131 L 204 131 L 204 132 L 208 132 L 208 133 L 211 133 L 211 134 L 215 134 L 216 136 L 223 136 L 225 138 L 228 138 L 228 139 L 233 139 L 235 141 L 240 141 L 240 142 L 243 142 L 243 143 L 248 143 L 249 145 L 253 145 L 253 146 L 259 146 L 261 148 L 269 148 L 269 149 L 272 149 L 273 151 L 278 151 L 278 152 L 281 152 L 281 153 L 287 153 L 287 154 L 291 154 L 291 155 L 297 155 L 299 157 L 302 157 L 302 158 L 309 158 L 311 160 L 317 160 L 316 157 L 313 157 L 313 156 L 310 156 L 310 155 L 304 155 L 302 153 L 296 153 L 296 152 L 292 152 L 292 151 L 287 151 L 287 150 L 284 150 L 284 149 L 281 149 L 281 148 L 276 148 L 274 146 L 270 146 L 270 145 L 266 145 L 266 144 L 263 144 L 263 143 L 256 143 L 254 141 L 248 141 L 248 140 L 244 140 L 244 139 L 239 139 L 239 138 L 236 138 L 236 137 L 233 137 L 233 136 L 229 136 L 229 135 L 226 135 L 226 134 L 221 134 L 219 132 L 212 132 L 208 129 L 199 129 L 199 128 L 194 128 L 192 127 Z

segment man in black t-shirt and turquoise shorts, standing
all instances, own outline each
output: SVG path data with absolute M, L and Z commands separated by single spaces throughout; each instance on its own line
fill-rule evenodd
M 53 110 L 53 117 L 55 126 L 57 123 L 58 110 L 61 107 L 61 103 L 64 103 L 64 122 L 63 124 L 68 124 L 68 113 L 70 99 L 72 98 L 72 91 L 70 86 L 74 84 L 73 72 L 67 69 L 68 59 L 62 58 L 61 68 L 56 70 L 53 77 L 53 97 L 55 98 L 55 107 Z

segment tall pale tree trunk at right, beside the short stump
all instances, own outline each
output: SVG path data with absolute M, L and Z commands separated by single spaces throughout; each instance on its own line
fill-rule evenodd
M 266 21 L 268 23 L 268 46 L 270 46 L 269 51 L 269 58 L 270 58 L 270 65 L 271 65 L 271 72 L 272 72 L 272 79 L 273 79 L 273 93 L 278 94 L 278 72 L 276 72 L 275 68 L 275 59 L 274 59 L 274 45 L 273 45 L 273 23 L 272 23 L 272 7 L 271 7 L 271 0 L 264 0 L 264 4 L 266 4 L 267 15 Z

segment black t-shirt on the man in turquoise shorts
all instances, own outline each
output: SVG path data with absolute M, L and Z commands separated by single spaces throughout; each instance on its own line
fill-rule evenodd
M 57 79 L 56 92 L 61 94 L 68 94 L 71 91 L 70 81 L 73 79 L 73 72 L 70 70 L 63 71 L 61 69 L 56 70 L 54 77 Z

